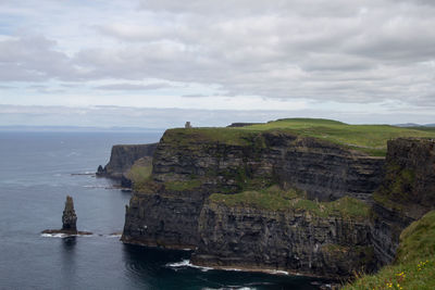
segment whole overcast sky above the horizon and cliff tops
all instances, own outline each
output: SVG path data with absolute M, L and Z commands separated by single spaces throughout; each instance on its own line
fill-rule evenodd
M 435 123 L 433 0 L 0 0 L 0 126 Z

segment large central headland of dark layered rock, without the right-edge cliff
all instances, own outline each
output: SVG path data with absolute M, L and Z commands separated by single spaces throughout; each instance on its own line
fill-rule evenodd
M 203 265 L 349 276 L 373 267 L 370 227 L 340 211 L 330 216 L 327 209 L 344 197 L 369 201 L 383 164 L 383 157 L 279 130 L 167 130 L 151 177 L 127 206 L 122 240 L 197 249 L 194 261 Z M 237 207 L 211 197 L 251 190 L 261 197 L 274 185 L 279 192 L 298 192 L 279 193 L 277 204 L 288 200 L 294 207 Z

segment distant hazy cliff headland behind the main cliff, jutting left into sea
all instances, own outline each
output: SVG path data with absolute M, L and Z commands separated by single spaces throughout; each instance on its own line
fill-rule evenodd
M 158 143 L 113 146 L 109 163 L 104 167 L 100 165 L 97 175 L 122 179 L 123 174 L 125 174 L 136 161 L 145 156 L 152 157 L 157 144 Z

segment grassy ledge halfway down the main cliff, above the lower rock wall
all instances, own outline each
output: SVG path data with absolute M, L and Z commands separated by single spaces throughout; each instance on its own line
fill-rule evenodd
M 303 199 L 303 192 L 300 190 L 282 190 L 277 186 L 235 194 L 213 193 L 210 196 L 210 201 L 232 207 L 307 212 L 319 217 L 338 216 L 351 219 L 369 217 L 369 206 L 357 199 L 344 197 L 333 202 L 316 202 Z

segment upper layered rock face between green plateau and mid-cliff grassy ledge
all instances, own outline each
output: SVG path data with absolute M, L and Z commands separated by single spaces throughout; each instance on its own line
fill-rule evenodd
M 251 134 L 223 143 L 170 130 L 156 150 L 152 175 L 161 182 L 199 178 L 215 192 L 235 192 L 256 180 L 291 185 L 310 199 L 366 200 L 382 180 L 383 164 L 382 157 L 285 133 Z

